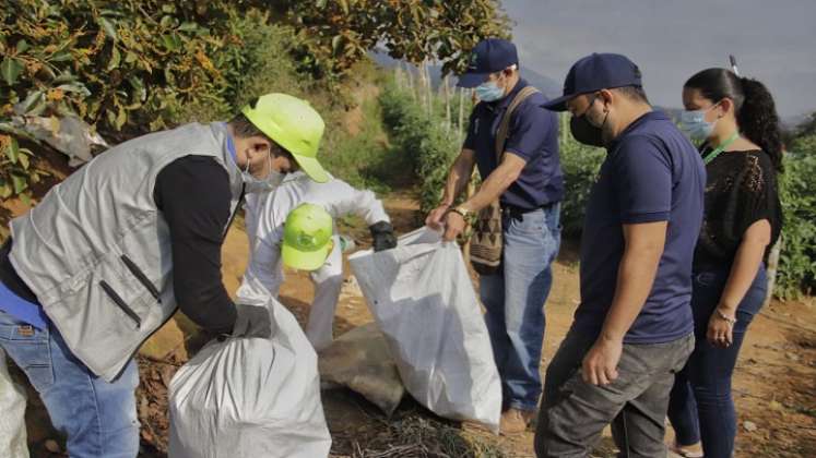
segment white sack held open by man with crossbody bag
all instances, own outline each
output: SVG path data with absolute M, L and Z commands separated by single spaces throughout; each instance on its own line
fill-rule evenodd
M 498 432 L 501 384 L 459 246 L 423 228 L 348 261 L 409 393 L 440 417 Z

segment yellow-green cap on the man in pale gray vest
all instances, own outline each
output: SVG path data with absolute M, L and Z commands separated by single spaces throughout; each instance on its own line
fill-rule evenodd
M 261 132 L 292 153 L 304 172 L 318 183 L 329 181 L 329 174 L 317 160 L 326 124 L 308 101 L 287 94 L 260 96 L 241 113 Z

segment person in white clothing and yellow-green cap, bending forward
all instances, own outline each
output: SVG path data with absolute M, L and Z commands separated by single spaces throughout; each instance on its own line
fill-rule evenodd
M 347 246 L 332 218 L 355 215 L 369 226 L 375 251 L 394 248 L 391 220 L 376 195 L 329 177 L 326 183 L 300 172 L 286 177 L 275 191 L 247 196 L 246 228 L 250 260 L 238 298 L 251 298 L 259 289 L 272 296 L 283 284 L 283 265 L 310 273 L 315 299 L 309 310 L 306 337 L 317 350 L 332 342 L 334 310 L 343 285 L 343 255 Z

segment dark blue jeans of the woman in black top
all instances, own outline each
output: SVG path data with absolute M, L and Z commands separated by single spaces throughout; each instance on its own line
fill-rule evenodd
M 669 403 L 669 420 L 677 443 L 702 442 L 706 458 L 731 458 L 736 436 L 736 411 L 731 396 L 731 376 L 740 347 L 767 292 L 765 266 L 736 309 L 733 342 L 717 348 L 706 339 L 708 322 L 725 287 L 730 268 L 697 272 L 694 275 L 691 308 L 697 343 L 686 367 L 677 374 Z

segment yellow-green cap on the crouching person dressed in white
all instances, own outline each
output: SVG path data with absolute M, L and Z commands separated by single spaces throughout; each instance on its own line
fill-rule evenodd
M 315 204 L 300 204 L 286 216 L 283 226 L 283 263 L 300 270 L 316 270 L 332 249 L 332 218 Z

